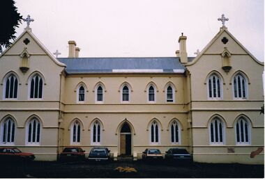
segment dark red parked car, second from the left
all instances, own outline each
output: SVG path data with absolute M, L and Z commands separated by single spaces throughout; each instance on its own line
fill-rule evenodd
M 59 161 L 84 161 L 84 152 L 81 147 L 65 147 L 59 156 Z

